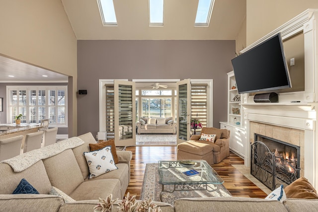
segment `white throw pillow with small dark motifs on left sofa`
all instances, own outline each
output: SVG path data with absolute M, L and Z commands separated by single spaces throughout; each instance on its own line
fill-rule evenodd
M 105 146 L 95 151 L 84 152 L 84 155 L 89 169 L 88 179 L 118 169 L 111 153 L 111 146 Z

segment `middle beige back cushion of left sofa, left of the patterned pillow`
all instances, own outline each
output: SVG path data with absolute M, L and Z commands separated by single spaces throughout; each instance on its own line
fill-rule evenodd
M 43 159 L 43 163 L 52 186 L 63 188 L 63 192 L 67 195 L 84 182 L 72 149 L 67 149 L 60 154 Z

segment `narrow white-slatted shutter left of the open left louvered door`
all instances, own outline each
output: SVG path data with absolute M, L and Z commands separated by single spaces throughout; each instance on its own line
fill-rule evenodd
M 106 86 L 106 132 L 107 140 L 114 139 L 115 135 L 115 112 L 114 112 L 114 84 L 105 84 Z

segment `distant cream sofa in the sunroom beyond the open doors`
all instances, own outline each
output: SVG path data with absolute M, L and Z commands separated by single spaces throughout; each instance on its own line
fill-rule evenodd
M 142 117 L 136 123 L 137 133 L 149 134 L 176 134 L 177 123 L 173 121 L 172 117 L 169 118 L 149 118 Z

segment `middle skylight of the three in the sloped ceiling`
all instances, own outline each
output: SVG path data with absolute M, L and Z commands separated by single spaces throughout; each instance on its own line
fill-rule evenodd
M 149 0 L 149 24 L 163 25 L 163 0 Z

